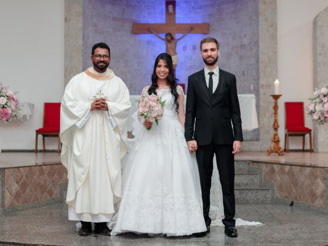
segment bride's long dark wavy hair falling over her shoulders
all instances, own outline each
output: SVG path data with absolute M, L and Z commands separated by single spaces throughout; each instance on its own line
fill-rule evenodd
M 159 60 L 166 61 L 167 65 L 168 65 L 168 68 L 169 68 L 169 75 L 167 78 L 168 85 L 170 86 L 171 94 L 174 98 L 174 104 L 176 106 L 175 111 L 178 112 L 178 108 L 179 108 L 178 96 L 179 95 L 178 95 L 178 92 L 176 91 L 176 86 L 177 86 L 176 83 L 177 83 L 178 79 L 176 79 L 174 77 L 172 57 L 168 53 L 161 53 L 156 57 L 155 64 L 154 64 L 154 70 L 153 70 L 153 74 L 152 74 L 152 84 L 148 89 L 148 94 L 151 95 L 152 93 L 154 93 L 155 95 L 157 95 L 156 89 L 158 88 L 158 85 L 157 85 L 156 67 L 159 63 Z

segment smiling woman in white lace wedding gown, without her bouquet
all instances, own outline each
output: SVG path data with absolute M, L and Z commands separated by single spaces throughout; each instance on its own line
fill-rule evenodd
M 204 232 L 196 156 L 189 152 L 184 136 L 183 90 L 176 84 L 172 58 L 167 53 L 157 56 L 152 84 L 141 96 L 152 93 L 166 101 L 164 113 L 158 126 L 143 122 L 122 175 L 123 194 L 111 235 Z

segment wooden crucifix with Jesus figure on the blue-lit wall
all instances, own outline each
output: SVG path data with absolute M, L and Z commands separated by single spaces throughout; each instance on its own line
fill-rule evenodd
M 189 23 L 177 24 L 175 23 L 175 1 L 165 1 L 166 23 L 164 24 L 142 24 L 133 23 L 133 34 L 149 34 L 153 33 L 166 43 L 166 52 L 172 56 L 173 68 L 177 66 L 176 42 L 188 33 L 209 33 L 208 23 Z M 166 33 L 166 38 L 158 35 L 158 33 Z M 183 33 L 183 35 L 175 39 L 176 33 Z M 183 89 L 185 89 L 183 87 Z

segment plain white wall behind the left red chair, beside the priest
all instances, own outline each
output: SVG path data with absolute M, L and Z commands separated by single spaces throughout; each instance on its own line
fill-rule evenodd
M 18 100 L 34 105 L 29 120 L 0 122 L 4 150 L 32 150 L 43 124 L 43 104 L 64 93 L 64 0 L 2 0 L 0 7 L 0 81 Z M 46 138 L 49 149 L 57 140 Z M 42 147 L 41 137 L 39 148 Z

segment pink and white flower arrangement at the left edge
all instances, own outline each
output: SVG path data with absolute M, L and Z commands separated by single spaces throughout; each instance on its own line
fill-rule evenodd
M 15 96 L 16 92 L 8 89 L 0 83 L 0 121 L 10 121 L 12 119 L 22 119 L 22 113 L 18 100 Z

